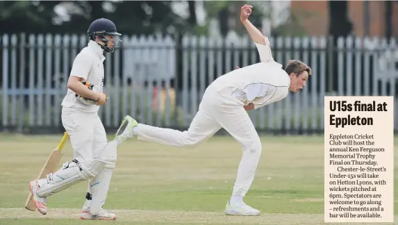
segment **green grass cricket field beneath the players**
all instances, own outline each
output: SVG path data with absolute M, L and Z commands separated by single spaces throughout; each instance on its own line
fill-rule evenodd
M 258 217 L 224 215 L 242 153 L 231 137 L 210 138 L 193 150 L 128 140 L 118 149 L 106 201 L 106 209 L 117 213 L 115 222 L 78 219 L 87 182 L 49 197 L 45 216 L 24 208 L 28 181 L 60 138 L 0 135 L 0 224 L 324 224 L 323 137 L 262 139 L 256 178 L 244 199 L 261 210 Z M 69 142 L 64 152 L 62 161 L 71 159 Z M 397 151 L 395 156 L 397 187 Z

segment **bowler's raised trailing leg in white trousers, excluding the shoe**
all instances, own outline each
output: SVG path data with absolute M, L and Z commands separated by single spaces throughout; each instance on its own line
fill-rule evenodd
M 138 140 L 147 140 L 159 144 L 167 144 L 174 147 L 194 148 L 213 136 L 221 126 L 213 117 L 199 110 L 190 124 L 188 131 L 177 131 L 170 128 L 160 128 L 145 124 L 138 124 Z

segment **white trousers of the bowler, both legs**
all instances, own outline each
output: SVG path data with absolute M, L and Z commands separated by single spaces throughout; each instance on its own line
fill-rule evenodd
M 208 89 L 188 131 L 181 132 L 139 124 L 138 139 L 175 147 L 194 148 L 220 128 L 224 128 L 242 146 L 243 156 L 232 194 L 244 196 L 254 180 L 262 147 L 256 128 L 244 110 L 243 103 L 238 99 Z

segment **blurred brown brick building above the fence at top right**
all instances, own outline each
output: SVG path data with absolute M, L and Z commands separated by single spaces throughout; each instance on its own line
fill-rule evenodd
M 390 1 L 392 15 L 390 33 L 398 37 L 398 2 Z M 385 1 L 369 1 L 369 35 L 388 35 Z M 364 1 L 348 1 L 348 17 L 353 25 L 352 35 L 365 35 Z M 327 35 L 329 31 L 329 1 L 291 1 L 291 13 L 298 19 L 308 35 Z

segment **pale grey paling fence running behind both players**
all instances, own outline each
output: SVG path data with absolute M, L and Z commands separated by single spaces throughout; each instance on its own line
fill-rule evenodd
M 325 37 L 270 38 L 274 59 L 300 59 L 313 76 L 298 94 L 250 112 L 258 131 L 314 133 L 324 128 L 324 96 L 396 95 L 396 40 Z M 85 35 L 3 35 L 1 38 L 0 129 L 18 132 L 63 131 L 60 103 L 74 57 Z M 213 39 L 124 36 L 122 48 L 106 53 L 101 108 L 106 128 L 124 115 L 156 126 L 187 128 L 207 85 L 235 66 L 258 63 L 249 38 Z M 398 127 L 398 126 L 395 126 Z

